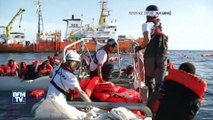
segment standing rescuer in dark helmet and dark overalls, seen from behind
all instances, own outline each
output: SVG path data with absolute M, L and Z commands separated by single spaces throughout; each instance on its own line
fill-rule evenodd
M 135 51 L 145 49 L 144 68 L 145 84 L 149 91 L 148 106 L 152 106 L 155 92 L 166 75 L 167 41 L 168 37 L 162 32 L 160 19 L 158 18 L 156 5 L 149 5 L 146 8 L 146 22 L 142 25 L 143 42 L 135 47 Z

